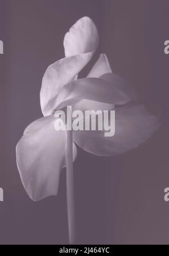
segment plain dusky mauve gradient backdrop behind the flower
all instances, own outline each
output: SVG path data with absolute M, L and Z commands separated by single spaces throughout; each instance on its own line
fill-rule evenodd
M 168 11 L 168 0 L 0 0 L 0 244 L 68 244 L 65 170 L 58 196 L 34 203 L 21 184 L 15 146 L 42 116 L 39 91 L 47 66 L 64 56 L 66 31 L 86 15 L 101 37 L 92 63 L 99 52 L 108 54 L 115 73 L 130 80 L 144 101 L 161 106 L 163 125 L 123 156 L 95 157 L 79 149 L 77 244 L 169 244 L 169 203 L 163 199 L 169 187 Z

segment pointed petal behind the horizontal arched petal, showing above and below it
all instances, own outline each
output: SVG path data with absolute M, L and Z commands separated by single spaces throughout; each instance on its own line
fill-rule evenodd
M 106 54 L 101 54 L 94 67 L 88 74 L 87 78 L 100 78 L 104 74 L 112 73 L 108 58 Z M 78 110 L 111 110 L 114 109 L 114 105 L 99 103 L 92 100 L 81 100 L 74 106 L 74 109 Z

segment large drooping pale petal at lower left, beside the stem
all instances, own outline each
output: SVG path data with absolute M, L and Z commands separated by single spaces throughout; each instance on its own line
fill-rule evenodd
M 56 195 L 65 166 L 66 131 L 56 131 L 53 116 L 26 128 L 16 146 L 17 167 L 29 197 L 36 201 Z M 74 160 L 77 149 L 74 145 Z

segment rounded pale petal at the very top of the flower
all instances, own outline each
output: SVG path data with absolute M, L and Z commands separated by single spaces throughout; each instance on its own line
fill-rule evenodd
M 65 56 L 93 52 L 99 45 L 99 33 L 95 23 L 88 17 L 78 20 L 64 38 Z

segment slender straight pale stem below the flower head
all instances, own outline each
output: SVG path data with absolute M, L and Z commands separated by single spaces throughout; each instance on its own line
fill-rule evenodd
M 68 206 L 68 226 L 70 245 L 75 243 L 74 171 L 73 171 L 73 132 L 67 131 L 66 186 Z

